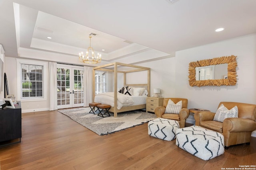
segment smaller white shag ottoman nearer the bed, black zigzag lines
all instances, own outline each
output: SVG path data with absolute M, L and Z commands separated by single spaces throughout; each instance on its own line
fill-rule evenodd
M 156 118 L 148 122 L 148 135 L 172 141 L 176 137 L 176 130 L 180 128 L 178 121 L 164 118 Z

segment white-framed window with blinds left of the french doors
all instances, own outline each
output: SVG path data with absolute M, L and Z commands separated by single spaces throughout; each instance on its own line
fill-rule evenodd
M 46 99 L 46 62 L 17 60 L 18 100 Z

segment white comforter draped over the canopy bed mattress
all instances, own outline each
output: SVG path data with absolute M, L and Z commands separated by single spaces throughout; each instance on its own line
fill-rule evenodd
M 117 94 L 117 109 L 121 109 L 123 106 L 135 106 L 140 104 L 146 104 L 147 96 L 129 96 L 122 93 Z M 108 104 L 114 107 L 114 92 L 106 92 L 97 94 L 94 97 L 94 102 L 101 104 Z

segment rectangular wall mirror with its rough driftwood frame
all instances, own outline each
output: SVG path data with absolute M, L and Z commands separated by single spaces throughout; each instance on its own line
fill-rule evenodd
M 214 68 L 220 68 L 221 65 L 224 67 L 226 66 L 226 72 L 218 73 L 218 69 L 214 70 Z M 188 66 L 189 85 L 199 87 L 222 85 L 235 86 L 237 76 L 236 67 L 237 62 L 236 56 L 234 55 L 191 62 Z

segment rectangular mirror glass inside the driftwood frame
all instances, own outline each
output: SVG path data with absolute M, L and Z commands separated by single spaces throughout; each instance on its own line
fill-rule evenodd
M 228 77 L 228 64 L 196 67 L 196 80 L 217 80 Z

